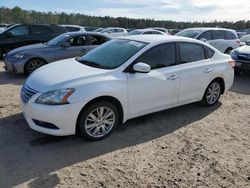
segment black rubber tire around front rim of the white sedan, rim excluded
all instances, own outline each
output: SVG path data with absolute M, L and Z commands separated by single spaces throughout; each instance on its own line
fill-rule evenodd
M 110 109 L 113 110 L 113 112 L 115 113 L 115 124 L 113 126 L 113 128 L 110 130 L 110 132 L 108 134 L 106 134 L 105 136 L 102 136 L 102 137 L 98 137 L 98 138 L 95 138 L 95 137 L 92 137 L 90 136 L 86 130 L 85 130 L 85 120 L 87 118 L 87 116 L 89 115 L 89 113 L 91 113 L 94 109 L 98 108 L 98 107 L 102 107 L 102 106 L 106 106 Z M 118 109 L 117 107 L 112 104 L 111 102 L 107 102 L 107 101 L 103 101 L 103 102 L 96 102 L 92 105 L 89 105 L 88 107 L 86 107 L 80 114 L 80 117 L 79 117 L 79 120 L 78 120 L 78 134 L 80 136 L 83 136 L 84 138 L 88 139 L 88 140 L 93 140 L 93 141 L 97 141 L 97 140 L 102 140 L 106 137 L 108 137 L 115 129 L 115 127 L 118 125 L 119 123 L 119 118 L 120 118 L 120 115 L 119 115 L 119 112 L 118 112 Z

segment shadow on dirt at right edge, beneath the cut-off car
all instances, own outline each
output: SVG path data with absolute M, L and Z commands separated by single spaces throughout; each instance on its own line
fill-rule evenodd
M 233 86 L 230 91 L 243 95 L 250 95 L 250 73 L 241 74 L 234 77 Z

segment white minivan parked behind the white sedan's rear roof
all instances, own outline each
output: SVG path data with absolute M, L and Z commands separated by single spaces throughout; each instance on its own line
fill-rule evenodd
M 236 31 L 223 28 L 191 28 L 184 29 L 176 36 L 183 36 L 207 42 L 219 51 L 230 54 L 233 49 L 240 46 Z

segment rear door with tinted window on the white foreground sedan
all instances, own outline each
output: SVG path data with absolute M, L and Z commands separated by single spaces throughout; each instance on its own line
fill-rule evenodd
M 178 43 L 180 55 L 179 103 L 200 100 L 213 74 L 212 49 L 196 43 Z M 209 51 L 208 51 L 209 50 Z

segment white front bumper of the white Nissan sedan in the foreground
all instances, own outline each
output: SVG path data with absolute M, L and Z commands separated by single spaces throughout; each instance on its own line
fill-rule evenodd
M 40 95 L 41 93 L 36 93 L 27 103 L 20 98 L 23 115 L 29 127 L 35 131 L 53 136 L 67 136 L 75 134 L 77 118 L 83 104 L 37 104 L 35 103 L 35 100 Z M 41 125 L 37 122 L 43 122 L 43 124 Z M 55 128 L 48 128 L 48 126 L 44 126 L 44 124 L 53 125 Z

